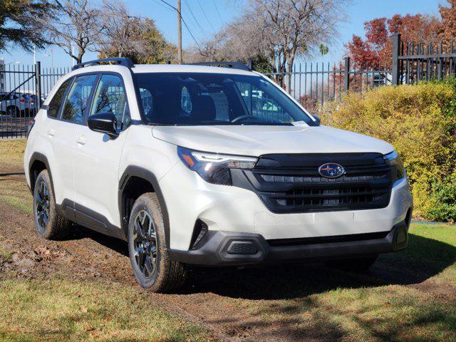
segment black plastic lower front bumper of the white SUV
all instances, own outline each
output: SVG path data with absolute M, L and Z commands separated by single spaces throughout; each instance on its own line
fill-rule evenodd
M 212 231 L 197 244 L 196 249 L 168 249 L 168 255 L 172 260 L 201 266 L 242 266 L 362 257 L 405 249 L 409 224 L 410 214 L 389 232 L 288 239 L 289 241 L 282 240 L 279 244 L 264 239 L 260 234 Z

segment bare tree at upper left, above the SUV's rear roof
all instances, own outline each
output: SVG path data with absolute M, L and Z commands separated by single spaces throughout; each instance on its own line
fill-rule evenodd
M 88 0 L 55 0 L 55 3 L 55 11 L 49 11 L 40 21 L 39 29 L 43 30 L 48 43 L 60 46 L 81 63 L 103 31 L 101 12 L 92 8 Z M 76 53 L 72 46 L 76 46 Z

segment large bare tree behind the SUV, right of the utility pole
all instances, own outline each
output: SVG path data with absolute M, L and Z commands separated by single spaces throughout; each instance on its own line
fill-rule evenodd
M 244 15 L 205 42 L 199 53 L 194 50 L 193 58 L 245 61 L 266 56 L 278 73 L 290 73 L 297 56 L 321 47 L 325 51 L 333 43 L 348 1 L 249 0 Z

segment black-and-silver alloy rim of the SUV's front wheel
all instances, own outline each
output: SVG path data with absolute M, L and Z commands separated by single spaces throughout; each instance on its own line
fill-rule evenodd
M 149 278 L 157 268 L 157 234 L 152 217 L 146 210 L 141 210 L 135 217 L 133 247 L 138 268 Z

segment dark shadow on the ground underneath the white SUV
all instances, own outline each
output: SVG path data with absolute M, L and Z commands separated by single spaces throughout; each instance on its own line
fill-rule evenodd
M 76 226 L 69 239 L 90 238 L 128 256 L 120 239 Z M 356 289 L 389 284 L 419 284 L 456 262 L 456 247 L 434 239 L 409 235 L 401 252 L 382 254 L 369 271 L 358 274 L 323 263 L 286 264 L 244 269 L 191 267 L 180 294 L 212 292 L 239 299 L 293 299 L 332 289 Z

